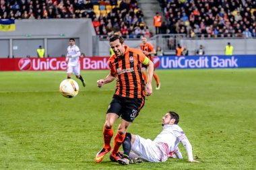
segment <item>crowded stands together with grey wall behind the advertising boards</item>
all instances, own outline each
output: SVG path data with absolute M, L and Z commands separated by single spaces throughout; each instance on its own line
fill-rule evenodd
M 195 55 L 222 55 L 228 42 L 233 54 L 256 54 L 256 1 L 42 0 L 0 1 L 0 18 L 15 19 L 14 32 L 0 32 L 0 58 L 65 56 L 69 38 L 86 56 L 109 56 L 108 36 L 119 32 L 131 48 L 147 36 L 164 55 L 177 44 Z M 153 19 L 162 15 L 160 34 Z

